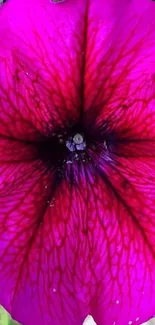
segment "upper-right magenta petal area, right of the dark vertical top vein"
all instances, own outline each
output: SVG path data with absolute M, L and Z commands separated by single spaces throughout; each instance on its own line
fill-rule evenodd
M 85 119 L 97 127 L 109 121 L 121 138 L 153 140 L 154 3 L 91 1 L 89 12 Z

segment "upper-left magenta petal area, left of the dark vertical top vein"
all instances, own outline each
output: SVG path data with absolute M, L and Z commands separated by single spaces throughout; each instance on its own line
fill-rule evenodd
M 11 0 L 3 7 L 2 134 L 34 140 L 40 133 L 53 131 L 56 125 L 78 119 L 82 108 L 83 42 L 77 31 L 83 34 L 82 3 L 78 0 L 74 5 L 66 3 L 58 8 L 50 1 L 45 5 L 43 0 Z M 9 130 L 5 121 L 13 122 Z

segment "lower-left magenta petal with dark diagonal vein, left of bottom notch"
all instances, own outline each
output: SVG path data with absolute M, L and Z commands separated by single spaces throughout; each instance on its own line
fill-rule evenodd
M 56 191 L 54 176 L 39 162 L 10 165 L 9 172 L 12 187 L 1 190 L 0 204 L 1 303 L 22 324 L 81 324 L 89 313 L 91 274 L 83 280 L 85 258 L 77 258 L 78 220 L 69 206 L 76 193 L 66 192 L 66 183 Z

